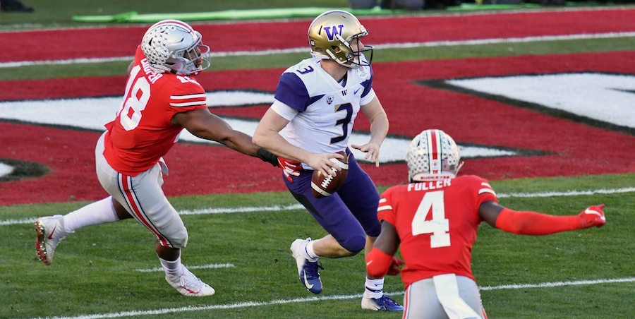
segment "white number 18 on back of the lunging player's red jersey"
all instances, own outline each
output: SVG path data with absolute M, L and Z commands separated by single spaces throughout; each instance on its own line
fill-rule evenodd
M 150 83 L 143 76 L 137 78 L 139 71 L 141 71 L 141 66 L 135 66 L 131 70 L 130 78 L 126 83 L 126 97 L 128 98 L 123 101 L 121 109 L 117 112 L 119 122 L 126 131 L 131 131 L 139 125 L 141 111 L 145 109 L 147 101 L 150 100 Z

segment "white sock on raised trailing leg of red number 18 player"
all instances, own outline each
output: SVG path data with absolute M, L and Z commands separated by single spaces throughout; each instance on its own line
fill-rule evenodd
M 106 224 L 119 220 L 112 205 L 112 196 L 85 205 L 64 215 L 64 229 L 69 233 L 86 226 Z

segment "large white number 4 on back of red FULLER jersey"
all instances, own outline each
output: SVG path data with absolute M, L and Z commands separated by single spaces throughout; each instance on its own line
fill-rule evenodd
M 432 212 L 432 219 L 428 215 Z M 449 219 L 445 218 L 443 191 L 425 193 L 412 219 L 412 236 L 432 234 L 430 248 L 450 246 Z

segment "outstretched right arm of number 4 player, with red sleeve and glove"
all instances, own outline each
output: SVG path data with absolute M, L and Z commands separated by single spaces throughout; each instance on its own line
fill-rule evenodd
M 480 205 L 478 212 L 492 227 L 521 235 L 548 235 L 561 231 L 601 227 L 606 219 L 602 211 L 604 204 L 586 208 L 579 215 L 555 216 L 540 212 L 511 210 L 488 201 Z

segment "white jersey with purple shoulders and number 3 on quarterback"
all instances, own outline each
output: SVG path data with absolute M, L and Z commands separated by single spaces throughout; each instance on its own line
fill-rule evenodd
M 342 84 L 322 69 L 320 61 L 310 58 L 287 68 L 272 109 L 289 120 L 286 140 L 291 145 L 308 152 L 339 152 L 348 146 L 360 106 L 375 98 L 373 70 L 351 68 Z

